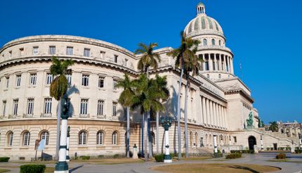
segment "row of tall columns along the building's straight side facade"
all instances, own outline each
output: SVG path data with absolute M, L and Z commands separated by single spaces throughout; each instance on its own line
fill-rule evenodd
M 204 96 L 200 96 L 200 100 L 202 122 L 212 127 L 227 128 L 226 108 Z

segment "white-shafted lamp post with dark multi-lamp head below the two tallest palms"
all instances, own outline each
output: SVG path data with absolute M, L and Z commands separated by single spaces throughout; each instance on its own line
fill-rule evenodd
M 165 148 L 166 153 L 164 154 L 164 162 L 172 162 L 172 158 L 169 151 L 169 127 L 171 127 L 172 122 L 174 121 L 173 117 L 165 116 L 160 117 L 160 124 L 164 127 L 164 138 L 165 138 Z

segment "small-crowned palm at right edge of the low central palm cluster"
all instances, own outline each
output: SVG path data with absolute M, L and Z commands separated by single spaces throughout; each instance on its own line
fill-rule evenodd
M 169 98 L 169 89 L 166 87 L 166 76 L 155 76 L 155 86 L 159 94 L 161 94 L 162 101 L 166 101 Z M 159 154 L 159 112 L 156 113 L 156 153 Z

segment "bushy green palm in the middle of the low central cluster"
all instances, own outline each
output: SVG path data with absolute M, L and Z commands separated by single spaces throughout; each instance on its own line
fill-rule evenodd
M 135 86 L 136 95 L 133 97 L 132 109 L 140 108 L 140 112 L 150 117 L 150 110 L 155 112 L 163 111 L 164 105 L 159 101 L 162 98 L 162 94 L 157 91 L 154 79 L 147 79 L 146 75 L 140 75 L 138 79 L 133 82 Z M 145 127 L 147 126 L 147 121 L 145 120 Z M 147 129 L 144 132 L 145 139 L 147 138 Z M 151 150 L 150 150 L 151 152 Z M 145 143 L 145 160 L 147 160 L 147 145 Z

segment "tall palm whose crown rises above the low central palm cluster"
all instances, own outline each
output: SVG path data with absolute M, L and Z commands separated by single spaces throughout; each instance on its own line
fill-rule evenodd
M 148 46 L 146 44 L 140 43 L 138 44 L 138 49 L 136 49 L 135 53 L 136 55 L 141 54 L 140 60 L 138 60 L 138 70 L 141 72 L 146 73 L 147 79 L 149 78 L 149 68 L 157 69 L 157 63 L 161 62 L 160 56 L 158 53 L 154 52 L 154 48 L 157 46 L 157 43 L 150 43 Z M 146 118 L 147 117 L 147 118 Z M 145 124 L 147 125 L 147 132 L 149 139 L 144 139 L 143 137 L 143 129 L 144 129 L 144 122 L 147 121 Z M 152 150 L 152 142 L 150 139 L 150 113 L 146 113 L 143 115 L 142 118 L 142 154 L 143 152 L 143 144 L 145 143 L 145 149 L 147 149 L 147 141 L 149 146 L 149 151 L 151 153 Z M 151 153 L 152 155 L 152 153 Z

